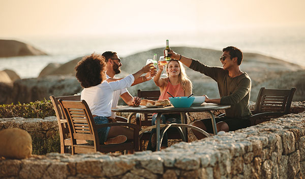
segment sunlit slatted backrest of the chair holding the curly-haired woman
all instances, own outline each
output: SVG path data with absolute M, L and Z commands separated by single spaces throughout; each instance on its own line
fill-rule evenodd
M 93 120 L 92 113 L 85 100 L 70 101 L 58 100 L 60 106 L 64 110 L 64 114 L 68 120 L 68 126 L 73 145 L 76 144 L 76 139 L 93 140 L 95 151 L 100 150 L 100 141 L 96 129 L 96 124 Z M 74 153 L 74 151 L 72 151 Z

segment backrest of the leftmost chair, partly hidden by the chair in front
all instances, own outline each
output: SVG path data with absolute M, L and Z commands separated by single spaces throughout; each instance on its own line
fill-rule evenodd
M 58 130 L 59 130 L 59 138 L 60 138 L 60 153 L 68 152 L 65 146 L 65 139 L 70 138 L 68 137 L 70 135 L 67 118 L 65 117 L 62 108 L 60 107 L 60 104 L 58 103 L 58 99 L 63 100 L 80 100 L 80 95 L 73 95 L 73 96 L 58 96 L 55 97 L 53 95 L 50 96 L 50 99 L 52 101 L 54 111 L 57 118 L 58 123 Z

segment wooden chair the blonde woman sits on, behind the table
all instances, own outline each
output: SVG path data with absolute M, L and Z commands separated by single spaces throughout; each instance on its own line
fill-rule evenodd
M 159 90 L 148 90 L 142 91 L 138 89 L 138 97 L 150 100 L 158 100 L 160 96 Z M 141 119 L 141 115 L 143 115 L 143 120 Z M 151 126 L 151 118 L 153 118 L 153 113 L 148 114 L 136 114 L 136 124 L 139 126 Z M 185 124 L 187 124 L 187 116 L 185 117 Z M 186 136 L 188 136 L 188 130 L 186 130 Z M 143 150 L 142 142 L 148 141 L 150 138 L 151 131 L 145 131 L 140 138 L 140 150 Z M 181 133 L 176 128 L 170 128 L 167 130 L 167 138 L 168 139 L 181 139 Z M 188 141 L 188 138 L 186 138 Z

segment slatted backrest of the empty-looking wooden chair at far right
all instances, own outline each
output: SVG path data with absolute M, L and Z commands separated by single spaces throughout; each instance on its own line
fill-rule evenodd
M 265 89 L 258 93 L 254 113 L 282 112 L 288 114 L 295 88 Z

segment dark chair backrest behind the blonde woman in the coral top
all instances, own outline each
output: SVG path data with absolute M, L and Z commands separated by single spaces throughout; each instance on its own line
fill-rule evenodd
M 143 99 L 158 100 L 160 96 L 159 90 L 142 91 L 138 89 L 138 97 Z M 137 121 L 137 125 L 140 126 L 151 126 L 151 118 L 153 113 L 144 114 L 144 120 Z

